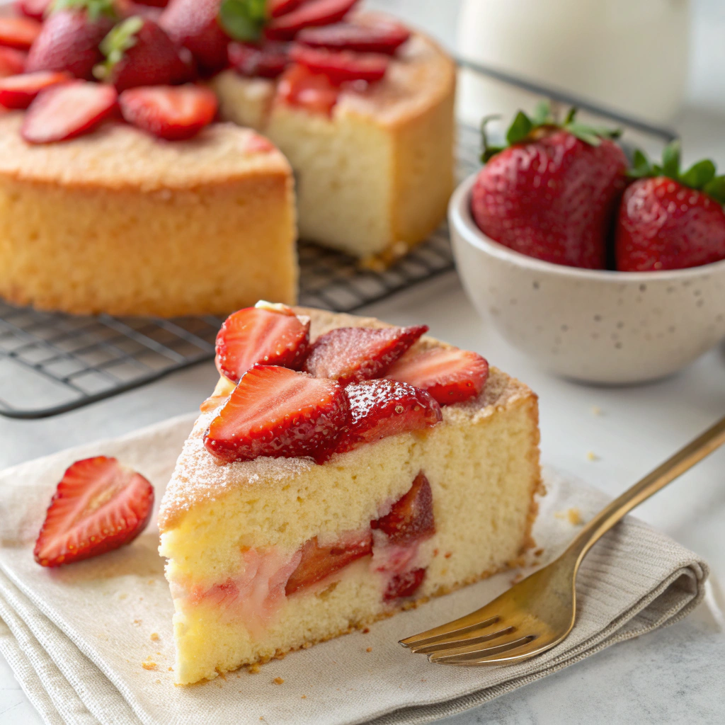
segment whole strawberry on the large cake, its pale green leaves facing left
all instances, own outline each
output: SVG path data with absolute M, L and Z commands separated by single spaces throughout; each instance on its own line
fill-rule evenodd
M 111 30 L 101 43 L 106 61 L 94 69 L 99 80 L 119 92 L 138 86 L 170 86 L 189 80 L 189 68 L 162 28 L 134 15 Z

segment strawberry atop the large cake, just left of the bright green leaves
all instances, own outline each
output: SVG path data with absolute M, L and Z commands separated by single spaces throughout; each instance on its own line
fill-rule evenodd
M 186 46 L 205 72 L 227 64 L 229 38 L 219 25 L 221 0 L 171 0 L 159 23 L 170 38 Z

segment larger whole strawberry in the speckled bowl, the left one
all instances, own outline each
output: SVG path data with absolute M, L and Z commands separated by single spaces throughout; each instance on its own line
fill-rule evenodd
M 548 104 L 534 118 L 519 112 L 508 148 L 486 147 L 471 212 L 484 234 L 516 252 L 603 269 L 627 160 L 616 134 L 576 123 L 574 113 L 558 125 Z

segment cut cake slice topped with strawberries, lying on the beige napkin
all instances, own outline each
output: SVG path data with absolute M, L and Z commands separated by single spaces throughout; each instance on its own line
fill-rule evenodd
M 222 378 L 159 512 L 179 683 L 365 626 L 531 546 L 537 397 L 426 330 L 281 305 L 227 320 Z

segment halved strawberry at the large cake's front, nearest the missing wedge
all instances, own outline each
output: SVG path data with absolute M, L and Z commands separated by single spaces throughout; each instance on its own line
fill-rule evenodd
M 159 138 L 181 141 L 196 136 L 217 114 L 217 96 L 209 88 L 143 86 L 123 91 L 119 99 L 124 119 Z

